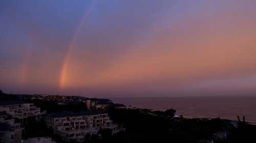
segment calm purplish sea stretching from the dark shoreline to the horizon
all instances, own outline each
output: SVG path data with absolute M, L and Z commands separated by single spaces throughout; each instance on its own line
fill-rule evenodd
M 223 118 L 256 125 L 256 96 L 244 97 L 112 97 L 115 103 L 153 110 L 175 109 L 184 118 Z

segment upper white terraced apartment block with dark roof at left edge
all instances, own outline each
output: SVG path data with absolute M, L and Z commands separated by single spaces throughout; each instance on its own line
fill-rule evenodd
M 27 103 L 20 100 L 2 100 L 0 101 L 0 111 L 8 113 L 12 118 L 17 118 L 20 124 L 26 125 L 28 117 L 35 117 L 40 121 L 46 116 L 46 111 L 40 111 L 40 108 L 34 106 L 33 103 Z

